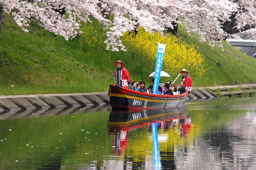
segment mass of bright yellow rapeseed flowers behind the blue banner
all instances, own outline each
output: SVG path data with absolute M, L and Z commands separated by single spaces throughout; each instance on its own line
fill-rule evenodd
M 124 37 L 123 43 L 125 46 L 130 45 L 134 48 L 133 50 L 146 56 L 145 59 L 152 64 L 149 68 L 155 68 L 155 64 L 153 64 L 156 62 L 157 46 L 155 42 L 160 42 L 166 44 L 163 71 L 176 77 L 179 71 L 185 68 L 190 72 L 193 81 L 199 81 L 207 70 L 206 61 L 198 51 L 198 47 L 182 42 L 175 36 L 165 35 L 165 37 L 162 37 L 159 33 L 152 35 L 139 28 L 136 36 L 126 33 Z

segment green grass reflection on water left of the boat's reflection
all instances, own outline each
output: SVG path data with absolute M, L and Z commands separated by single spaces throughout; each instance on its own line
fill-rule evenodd
M 1 120 L 0 169 L 41 169 L 58 164 L 69 169 L 66 166 L 102 162 L 112 150 L 106 112 Z

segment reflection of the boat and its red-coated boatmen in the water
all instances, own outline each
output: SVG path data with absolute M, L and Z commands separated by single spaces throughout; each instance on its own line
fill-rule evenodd
M 136 128 L 157 125 L 157 129 L 178 128 L 180 135 L 190 132 L 191 120 L 185 110 L 112 110 L 109 115 L 108 132 L 114 136 L 115 153 L 122 154 L 128 145 L 129 133 Z

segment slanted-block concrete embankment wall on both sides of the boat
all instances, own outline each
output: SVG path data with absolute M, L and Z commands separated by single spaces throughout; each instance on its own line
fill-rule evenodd
M 245 91 L 227 92 L 227 89 L 247 89 L 246 92 L 256 93 L 256 84 L 211 87 L 209 89 L 194 89 L 189 94 L 190 99 L 206 99 L 219 97 L 214 90 L 219 90 L 220 95 L 242 94 Z M 35 110 L 49 108 L 79 108 L 109 105 L 108 92 L 98 93 L 71 93 L 71 94 L 46 94 L 46 95 L 21 95 L 0 96 L 0 114 L 13 110 Z

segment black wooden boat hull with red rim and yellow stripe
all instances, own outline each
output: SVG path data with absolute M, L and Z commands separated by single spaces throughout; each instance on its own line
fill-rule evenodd
M 155 95 L 109 85 L 109 101 L 112 108 L 161 109 L 183 106 L 188 92 L 180 95 Z

